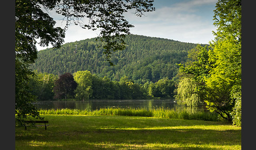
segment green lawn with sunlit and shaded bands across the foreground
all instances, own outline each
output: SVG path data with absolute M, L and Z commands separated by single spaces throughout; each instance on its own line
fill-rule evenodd
M 241 149 L 241 127 L 141 116 L 41 115 L 44 127 L 15 128 L 15 149 Z

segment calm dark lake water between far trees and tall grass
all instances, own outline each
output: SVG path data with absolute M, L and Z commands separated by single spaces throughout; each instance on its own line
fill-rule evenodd
M 138 99 L 138 100 L 88 100 L 88 101 L 37 101 L 38 109 L 79 109 L 96 110 L 100 108 L 170 108 L 176 109 L 174 99 Z

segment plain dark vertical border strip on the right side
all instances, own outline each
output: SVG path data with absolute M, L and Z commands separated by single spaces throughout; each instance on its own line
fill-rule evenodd
M 242 149 L 255 147 L 255 1 L 242 1 Z

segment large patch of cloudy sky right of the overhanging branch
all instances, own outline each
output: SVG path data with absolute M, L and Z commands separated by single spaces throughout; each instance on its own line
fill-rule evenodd
M 208 15 L 207 19 L 202 17 L 204 13 L 211 14 L 213 10 L 204 12 L 203 8 L 209 4 L 215 6 L 215 3 L 216 0 L 183 1 L 156 8 L 155 12 L 146 13 L 141 18 L 131 12 L 126 17 L 135 26 L 131 29 L 132 34 L 208 44 L 214 39 L 212 31 L 216 28 L 212 25 L 212 16 Z

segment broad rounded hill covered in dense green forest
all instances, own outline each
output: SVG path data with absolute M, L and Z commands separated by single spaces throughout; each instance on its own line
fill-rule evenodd
M 186 61 L 187 51 L 196 47 L 196 44 L 170 39 L 127 35 L 127 48 L 112 54 L 115 66 L 110 66 L 103 48 L 99 47 L 101 42 L 95 39 L 70 42 L 60 49 L 38 51 L 38 58 L 31 68 L 59 75 L 89 70 L 111 80 L 118 81 L 125 75 L 137 82 L 155 82 L 165 77 L 172 79 L 178 72 L 176 63 Z

